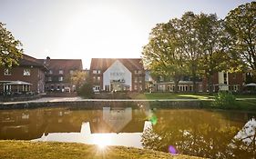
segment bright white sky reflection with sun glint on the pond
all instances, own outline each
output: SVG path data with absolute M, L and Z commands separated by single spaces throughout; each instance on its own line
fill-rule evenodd
M 144 129 L 152 128 L 150 122 L 145 122 Z M 96 133 L 92 134 L 89 122 L 82 124 L 80 133 L 50 133 L 43 134 L 41 138 L 33 141 L 58 141 L 68 143 L 83 143 L 83 144 L 97 144 L 99 146 L 105 145 L 123 145 L 142 148 L 140 143 L 142 133 Z

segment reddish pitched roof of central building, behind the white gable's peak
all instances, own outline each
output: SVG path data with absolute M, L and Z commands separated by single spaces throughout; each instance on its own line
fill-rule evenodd
M 144 70 L 141 58 L 92 58 L 90 70 L 101 70 L 105 72 L 117 60 L 125 65 L 129 71 Z

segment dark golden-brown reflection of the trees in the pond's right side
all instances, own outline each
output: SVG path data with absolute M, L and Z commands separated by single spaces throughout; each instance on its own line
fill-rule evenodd
M 253 136 L 250 136 L 253 141 L 246 144 L 243 140 L 234 138 L 242 126 L 226 120 L 221 114 L 210 114 L 207 111 L 199 114 L 191 114 L 189 111 L 175 111 L 175 114 L 159 111 L 156 114 L 161 116 L 158 124 L 142 134 L 144 148 L 168 152 L 172 145 L 178 154 L 209 158 L 255 157 L 256 126 Z

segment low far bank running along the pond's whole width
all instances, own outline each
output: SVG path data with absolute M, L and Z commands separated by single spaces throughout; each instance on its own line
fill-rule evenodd
M 256 111 L 256 98 L 237 98 L 235 105 L 227 107 L 213 106 L 214 99 L 82 99 L 73 98 L 40 98 L 34 101 L 0 103 L 2 109 L 30 109 L 50 106 L 76 106 L 83 109 L 102 109 L 103 107 L 132 108 L 210 108 Z

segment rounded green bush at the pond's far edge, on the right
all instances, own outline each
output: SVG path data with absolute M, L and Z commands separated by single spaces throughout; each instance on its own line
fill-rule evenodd
M 236 103 L 236 97 L 230 92 L 219 92 L 214 97 L 215 106 L 230 107 Z

